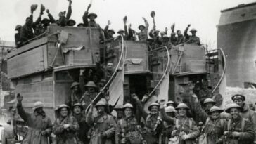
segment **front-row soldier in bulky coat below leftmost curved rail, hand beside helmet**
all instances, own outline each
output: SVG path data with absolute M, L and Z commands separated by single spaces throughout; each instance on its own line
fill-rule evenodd
M 87 123 L 91 126 L 89 131 L 91 144 L 111 144 L 115 134 L 115 119 L 106 113 L 107 104 L 102 100 L 96 103 L 97 116 L 93 116 L 94 105 L 91 103 L 87 114 Z

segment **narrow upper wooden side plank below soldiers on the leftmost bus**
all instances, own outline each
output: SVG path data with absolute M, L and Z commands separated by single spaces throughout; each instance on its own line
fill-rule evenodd
M 12 58 L 13 56 L 15 55 L 18 55 L 20 53 L 24 53 L 25 51 L 29 51 L 30 49 L 32 48 L 36 48 L 38 46 L 41 46 L 43 44 L 46 44 L 48 41 L 48 38 L 47 37 L 43 37 L 41 39 L 37 39 L 37 40 L 34 40 L 32 42 L 30 42 L 29 44 L 26 44 L 25 46 L 21 46 L 20 48 L 18 48 L 17 50 L 15 51 L 12 51 L 11 53 L 8 53 L 6 55 L 6 58 L 9 59 L 9 58 Z

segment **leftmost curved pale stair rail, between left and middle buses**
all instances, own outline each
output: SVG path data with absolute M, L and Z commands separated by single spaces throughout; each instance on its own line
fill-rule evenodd
M 124 53 L 124 37 L 122 37 L 122 35 L 118 36 L 122 38 L 122 51 L 121 51 L 121 57 L 117 63 L 117 67 L 115 67 L 115 71 L 113 72 L 112 76 L 110 77 L 110 79 L 108 80 L 107 84 L 105 84 L 105 86 L 103 87 L 103 89 L 101 89 L 101 91 L 98 93 L 98 95 L 94 98 L 94 100 L 92 100 L 92 102 L 94 103 L 94 101 L 98 98 L 98 96 L 101 95 L 101 93 L 103 91 L 105 91 L 105 89 L 107 88 L 107 86 L 110 84 L 110 81 L 113 80 L 113 77 L 115 76 L 115 74 L 117 73 L 118 67 L 120 66 L 121 60 L 124 56 L 124 58 L 126 57 L 126 53 Z M 124 55 L 125 54 L 125 55 Z M 122 63 L 122 67 L 123 67 L 124 63 Z M 89 107 L 91 107 L 91 103 L 88 105 L 87 109 L 85 110 L 85 112 L 88 111 Z

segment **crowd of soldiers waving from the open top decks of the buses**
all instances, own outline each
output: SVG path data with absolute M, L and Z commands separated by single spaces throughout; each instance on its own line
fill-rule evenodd
M 58 14 L 58 20 L 53 18 L 53 15 L 51 15 L 49 9 L 46 9 L 46 13 L 48 15 L 48 18 L 44 18 L 41 20 L 42 15 L 44 14 L 45 7 L 44 5 L 41 5 L 39 18 L 35 22 L 33 22 L 33 13 L 37 9 L 37 5 L 31 6 L 31 15 L 30 17 L 26 18 L 25 24 L 23 26 L 17 25 L 15 27 L 15 30 L 18 31 L 18 33 L 15 34 L 15 44 L 17 48 L 20 46 L 23 46 L 24 44 L 27 44 L 31 39 L 34 39 L 35 37 L 39 37 L 42 34 L 46 34 L 47 27 L 49 25 L 58 25 L 60 27 L 75 27 L 75 20 L 72 20 L 70 17 L 72 15 L 72 0 L 69 1 L 68 6 L 68 12 L 61 11 Z M 104 29 L 101 29 L 100 25 L 96 23 L 97 15 L 96 13 L 89 13 L 89 9 L 91 8 L 91 4 L 87 7 L 87 11 L 84 12 L 84 15 L 82 16 L 83 23 L 79 23 L 77 27 L 98 27 L 101 30 L 101 43 L 105 41 L 109 41 L 113 39 L 113 35 L 115 34 L 115 30 L 109 29 L 109 26 L 111 25 L 110 20 L 108 20 L 108 25 L 105 26 Z M 136 32 L 134 29 L 132 29 L 132 25 L 129 24 L 127 27 L 127 16 L 124 17 L 124 30 L 118 30 L 117 34 L 120 34 L 124 37 L 124 40 L 130 40 L 130 41 L 145 41 L 148 42 L 148 44 L 151 46 L 151 49 L 158 48 L 161 46 L 175 46 L 178 44 L 198 44 L 200 45 L 200 39 L 196 36 L 196 29 L 191 29 L 191 35 L 188 34 L 188 29 L 191 25 L 188 25 L 186 27 L 186 30 L 184 30 L 184 34 L 181 33 L 181 30 L 174 31 L 175 25 L 173 24 L 171 29 L 172 33 L 170 34 L 170 37 L 167 35 L 167 27 L 165 28 L 165 31 L 160 32 L 159 30 L 156 30 L 155 26 L 155 12 L 152 11 L 151 17 L 153 18 L 153 28 L 148 32 L 149 25 L 146 18 L 143 18 L 143 21 L 145 22 L 145 25 L 139 25 L 139 32 Z M 148 37 L 149 36 L 149 37 Z

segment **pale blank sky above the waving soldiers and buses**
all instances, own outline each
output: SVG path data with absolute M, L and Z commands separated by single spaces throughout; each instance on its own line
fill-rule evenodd
M 217 45 L 217 24 L 221 10 L 249 4 L 255 0 L 72 0 L 71 18 L 82 22 L 82 15 L 89 3 L 92 3 L 89 12 L 97 13 L 101 27 L 111 21 L 110 28 L 116 32 L 123 29 L 122 18 L 127 15 L 128 24 L 138 30 L 143 24 L 142 17 L 149 22 L 149 29 L 153 27 L 151 11 L 155 11 L 155 22 L 158 30 L 170 30 L 175 23 L 175 30 L 184 31 L 188 24 L 198 30 L 198 37 L 203 44 Z M 34 20 L 39 15 L 40 4 L 49 9 L 54 18 L 58 18 L 59 11 L 68 10 L 67 0 L 0 0 L 0 39 L 14 41 L 15 25 L 24 25 L 25 18 L 30 15 L 31 4 L 38 4 L 34 13 Z M 47 18 L 46 12 L 43 18 Z M 168 32 L 170 34 L 170 32 Z

